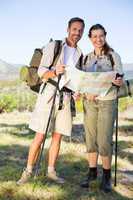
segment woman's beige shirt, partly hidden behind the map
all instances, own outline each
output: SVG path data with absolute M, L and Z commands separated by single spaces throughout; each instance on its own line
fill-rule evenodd
M 94 66 L 96 63 L 97 66 L 94 67 L 96 71 L 101 71 L 101 72 L 116 71 L 122 74 L 123 69 L 122 69 L 120 56 L 116 52 L 113 52 L 113 51 L 111 51 L 110 54 L 112 55 L 112 58 L 113 58 L 113 62 L 114 62 L 113 66 L 108 56 L 102 55 L 102 56 L 97 57 L 94 54 L 94 52 L 91 52 L 87 55 L 88 57 L 87 57 L 85 65 L 83 66 L 83 70 L 90 71 L 92 66 Z M 116 99 L 116 87 L 112 86 L 105 97 L 98 97 L 97 99 L 98 100 Z

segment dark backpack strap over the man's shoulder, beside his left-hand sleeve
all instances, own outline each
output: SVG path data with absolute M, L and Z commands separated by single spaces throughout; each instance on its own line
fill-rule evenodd
M 54 58 L 52 64 L 49 66 L 49 69 L 51 69 L 51 67 L 57 63 L 61 50 L 62 50 L 62 40 L 55 40 Z

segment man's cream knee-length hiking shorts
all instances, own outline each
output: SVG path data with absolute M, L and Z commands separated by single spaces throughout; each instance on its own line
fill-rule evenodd
M 29 128 L 35 132 L 45 134 L 53 101 L 53 98 L 51 99 L 51 97 L 53 96 L 54 91 L 55 86 L 47 84 L 43 93 L 39 93 L 38 95 L 35 109 L 29 123 Z M 49 132 L 58 132 L 62 135 L 71 136 L 72 116 L 70 110 L 70 95 L 65 98 L 62 110 L 58 110 L 58 106 L 59 97 L 57 96 L 53 109 L 53 115 L 51 117 Z

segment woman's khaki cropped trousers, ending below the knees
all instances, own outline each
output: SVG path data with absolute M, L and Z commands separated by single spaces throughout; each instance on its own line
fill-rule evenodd
M 97 103 L 83 101 L 86 146 L 89 153 L 112 155 L 112 136 L 116 118 L 116 100 Z

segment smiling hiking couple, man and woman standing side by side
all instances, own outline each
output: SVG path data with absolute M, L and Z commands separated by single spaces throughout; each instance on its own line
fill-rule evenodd
M 89 67 L 96 65 L 95 71 L 112 71 L 122 73 L 122 64 L 119 55 L 114 52 L 106 42 L 106 31 L 100 24 L 92 26 L 89 30 L 89 38 L 94 46 L 94 51 L 83 57 L 80 48 L 77 46 L 85 28 L 84 20 L 81 18 L 72 18 L 68 22 L 68 36 L 61 42 L 60 52 L 56 63 L 53 63 L 55 41 L 50 42 L 43 53 L 41 63 L 38 69 L 38 75 L 43 80 L 40 87 L 38 99 L 33 111 L 30 129 L 36 132 L 34 140 L 30 146 L 27 166 L 24 169 L 21 178 L 17 184 L 26 183 L 32 175 L 33 167 L 37 161 L 40 147 L 45 139 L 45 130 L 52 106 L 52 99 L 55 92 L 55 85 L 48 82 L 49 79 L 57 82 L 59 75 L 61 81 L 65 76 L 65 67 L 77 67 L 78 69 L 89 71 Z M 45 89 L 43 90 L 44 84 Z M 112 80 L 117 85 L 122 85 L 122 78 Z M 74 95 L 79 98 L 79 94 Z M 72 129 L 71 112 L 72 94 L 67 88 L 61 95 L 57 93 L 53 114 L 50 123 L 50 132 L 52 132 L 52 141 L 48 153 L 48 178 L 63 184 L 65 180 L 59 177 L 55 170 L 56 161 L 59 154 L 62 135 L 70 136 Z M 59 105 L 62 103 L 60 109 Z M 84 94 L 84 126 L 86 133 L 86 145 L 88 151 L 89 172 L 81 187 L 89 187 L 91 181 L 97 178 L 97 160 L 98 154 L 101 155 L 103 163 L 103 176 L 101 189 L 105 192 L 111 191 L 111 156 L 112 156 L 112 134 L 115 121 L 116 110 L 116 88 L 112 86 L 109 93 L 102 98 L 97 95 Z

